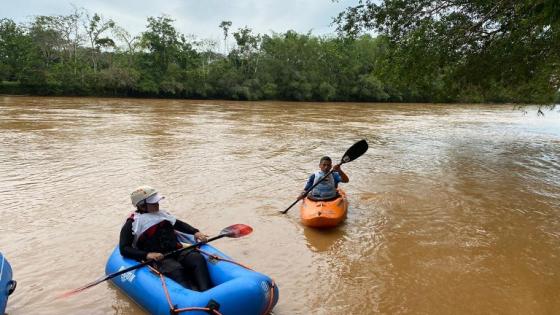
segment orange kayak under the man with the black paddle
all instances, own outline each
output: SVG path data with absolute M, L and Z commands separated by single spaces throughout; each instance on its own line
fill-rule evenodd
M 303 199 L 300 208 L 301 223 L 310 227 L 329 228 L 344 221 L 348 212 L 348 199 L 340 188 L 338 194 L 338 198 L 327 201 Z

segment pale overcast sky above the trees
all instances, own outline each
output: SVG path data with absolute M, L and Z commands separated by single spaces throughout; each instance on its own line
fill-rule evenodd
M 295 30 L 314 35 L 335 33 L 332 18 L 357 0 L 0 0 L 0 18 L 29 22 L 35 15 L 68 15 L 72 5 L 113 19 L 132 35 L 146 30 L 148 16 L 166 14 L 175 28 L 197 38 L 223 39 L 218 27 L 231 21 L 232 31 L 248 26 L 254 33 Z

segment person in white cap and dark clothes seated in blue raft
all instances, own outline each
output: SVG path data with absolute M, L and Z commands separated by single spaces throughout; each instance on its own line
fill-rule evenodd
M 212 287 L 206 260 L 196 250 L 182 251 L 174 256 L 163 254 L 181 248 L 175 230 L 194 235 L 195 240 L 206 242 L 208 236 L 189 224 L 160 210 L 164 197 L 150 186 L 141 186 L 130 195 L 136 211 L 121 229 L 119 249 L 125 257 L 138 261 L 153 259 L 165 276 L 182 286 L 198 291 Z

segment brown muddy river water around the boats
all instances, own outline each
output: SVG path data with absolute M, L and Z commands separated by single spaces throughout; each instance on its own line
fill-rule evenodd
M 274 314 L 558 314 L 560 114 L 510 105 L 0 96 L 7 313 L 145 314 L 104 275 L 133 210 L 162 208 L 272 277 Z M 286 215 L 319 159 L 356 141 L 345 224 Z

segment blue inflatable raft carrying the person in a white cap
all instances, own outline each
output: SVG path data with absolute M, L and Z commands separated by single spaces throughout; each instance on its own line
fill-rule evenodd
M 233 262 L 216 248 L 205 244 L 200 251 L 206 258 L 214 287 L 204 292 L 189 290 L 175 281 L 160 277 L 150 267 L 142 267 L 111 281 L 134 302 L 151 314 L 268 314 L 278 302 L 278 287 L 268 276 Z M 121 255 L 118 246 L 107 261 L 111 274 L 138 264 Z M 163 280 L 162 280 L 163 279 Z M 163 283 L 165 286 L 163 285 Z

